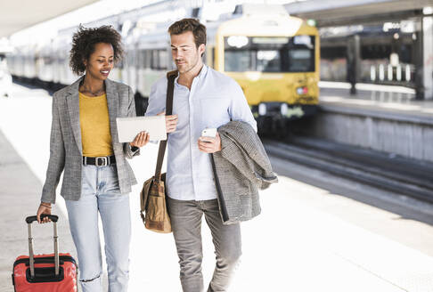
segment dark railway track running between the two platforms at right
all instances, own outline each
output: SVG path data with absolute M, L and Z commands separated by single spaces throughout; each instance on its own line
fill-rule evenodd
M 269 155 L 433 203 L 433 164 L 314 138 L 264 140 Z

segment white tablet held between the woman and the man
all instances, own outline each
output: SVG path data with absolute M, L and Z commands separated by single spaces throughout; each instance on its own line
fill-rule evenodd
M 116 118 L 118 125 L 118 142 L 133 142 L 135 136 L 146 131 L 151 141 L 167 139 L 166 116 Z

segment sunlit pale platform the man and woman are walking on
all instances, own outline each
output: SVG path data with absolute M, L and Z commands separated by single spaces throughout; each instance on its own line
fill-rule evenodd
M 51 96 L 18 85 L 13 92 L 0 99 L 0 195 L 6 215 L 0 231 L 10 234 L 0 246 L 2 292 L 12 291 L 14 258 L 27 253 L 21 217 L 36 211 L 51 125 Z M 151 176 L 156 153 L 155 145 L 147 145 L 132 160 L 139 182 Z M 242 223 L 243 255 L 231 291 L 433 291 L 432 206 L 406 206 L 404 198 L 331 174 L 278 158 L 272 163 L 280 183 L 260 193 L 262 214 Z M 180 291 L 172 235 L 144 230 L 139 190 L 136 185 L 130 195 L 129 290 Z M 58 198 L 61 250 L 75 253 Z M 203 250 L 208 283 L 215 255 L 206 223 Z

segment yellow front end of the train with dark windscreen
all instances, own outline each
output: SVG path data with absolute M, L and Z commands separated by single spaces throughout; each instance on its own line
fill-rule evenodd
M 244 13 L 220 23 L 215 40 L 207 62 L 241 85 L 260 132 L 315 113 L 320 63 L 315 27 L 285 11 Z

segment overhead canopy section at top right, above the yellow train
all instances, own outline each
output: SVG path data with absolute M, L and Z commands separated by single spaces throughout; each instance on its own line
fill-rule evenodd
M 318 27 L 402 20 L 421 15 L 433 0 L 307 0 L 286 4 L 291 15 L 316 20 Z

